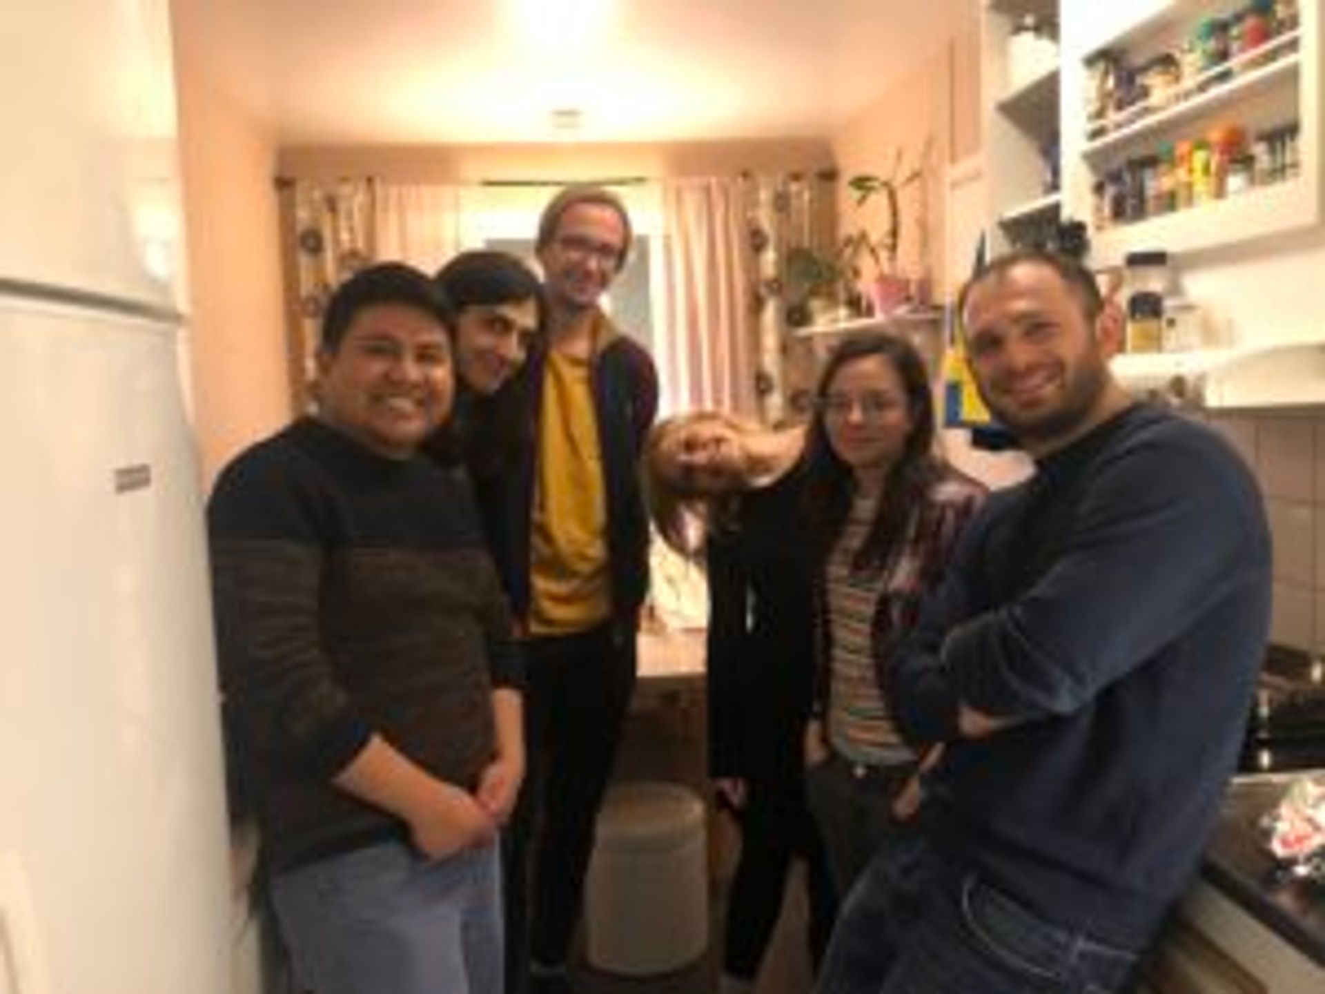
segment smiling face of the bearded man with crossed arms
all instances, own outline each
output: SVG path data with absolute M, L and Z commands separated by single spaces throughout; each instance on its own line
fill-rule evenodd
M 973 286 L 965 325 L 980 396 L 1032 455 L 1061 448 L 1112 412 L 1113 322 L 1088 318 L 1051 266 L 1019 262 Z

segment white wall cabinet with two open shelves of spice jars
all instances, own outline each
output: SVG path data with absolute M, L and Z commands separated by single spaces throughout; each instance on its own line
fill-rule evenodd
M 1300 0 L 1297 27 L 1246 54 L 1238 56 L 1235 49 L 1231 60 L 1195 80 L 1185 74 L 1179 85 L 1157 89 L 1104 122 L 1088 119 L 1086 106 L 1097 87 L 1089 65 L 1104 53 L 1143 66 L 1166 53 L 1179 54 L 1203 19 L 1227 17 L 1246 7 L 1246 0 L 1064 4 L 1063 207 L 1064 213 L 1088 224 L 1094 266 L 1116 265 L 1137 249 L 1211 249 L 1321 221 L 1322 0 Z M 1143 171 L 1141 163 L 1179 143 L 1207 140 L 1232 126 L 1242 130 L 1246 148 L 1252 151 L 1257 135 L 1289 125 L 1297 129 L 1297 167 L 1264 170 L 1257 162 L 1257 175 L 1240 192 L 1171 209 L 1171 199 L 1157 200 L 1150 184 L 1137 193 L 1141 186 L 1129 182 Z M 1140 205 L 1140 211 L 1126 211 L 1130 220 L 1109 217 L 1117 213 L 1110 204 L 1118 196 Z

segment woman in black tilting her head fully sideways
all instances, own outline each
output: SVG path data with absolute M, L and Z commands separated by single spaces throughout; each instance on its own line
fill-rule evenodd
M 741 834 L 721 994 L 751 989 L 792 857 L 807 865 L 815 964 L 832 929 L 828 868 L 802 781 L 815 659 L 804 441 L 803 428 L 700 411 L 657 424 L 644 448 L 659 534 L 682 554 L 706 539 L 709 775 Z

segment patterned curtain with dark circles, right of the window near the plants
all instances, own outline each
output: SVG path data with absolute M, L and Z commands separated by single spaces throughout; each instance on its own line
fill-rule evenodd
M 742 176 L 754 274 L 750 309 L 755 323 L 755 394 L 768 424 L 804 420 L 814 395 L 815 355 L 795 329 L 810 323 L 804 288 L 788 278 L 798 249 L 832 258 L 836 247 L 837 174 Z

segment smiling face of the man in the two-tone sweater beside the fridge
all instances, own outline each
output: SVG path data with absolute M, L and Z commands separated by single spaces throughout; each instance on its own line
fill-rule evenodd
M 368 305 L 318 353 L 318 417 L 390 459 L 416 452 L 453 392 L 447 330 L 419 307 Z

